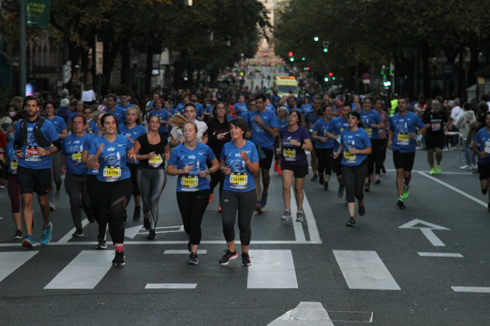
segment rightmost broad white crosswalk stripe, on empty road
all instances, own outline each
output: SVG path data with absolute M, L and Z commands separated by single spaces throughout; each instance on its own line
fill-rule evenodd
M 349 288 L 400 290 L 375 251 L 334 250 L 333 252 Z

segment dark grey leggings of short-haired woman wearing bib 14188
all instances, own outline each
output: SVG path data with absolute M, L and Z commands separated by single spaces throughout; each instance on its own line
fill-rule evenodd
M 221 195 L 221 219 L 223 221 L 223 234 L 226 242 L 235 240 L 235 220 L 238 211 L 238 229 L 240 230 L 240 241 L 242 245 L 250 244 L 252 221 L 257 193 L 255 189 L 246 193 L 223 190 Z

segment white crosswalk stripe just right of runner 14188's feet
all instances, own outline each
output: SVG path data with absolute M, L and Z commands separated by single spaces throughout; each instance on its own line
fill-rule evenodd
M 298 288 L 291 250 L 250 250 L 249 255 L 248 289 Z

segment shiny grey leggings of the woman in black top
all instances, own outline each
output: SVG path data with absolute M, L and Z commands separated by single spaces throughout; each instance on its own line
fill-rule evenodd
M 153 230 L 158 222 L 158 203 L 166 183 L 165 169 L 138 168 L 138 187 L 143 201 L 143 218 L 151 217 L 150 229 Z

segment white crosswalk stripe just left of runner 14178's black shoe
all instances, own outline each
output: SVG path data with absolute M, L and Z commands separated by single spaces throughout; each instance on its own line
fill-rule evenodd
M 45 289 L 93 289 L 111 268 L 111 250 L 83 250 Z

